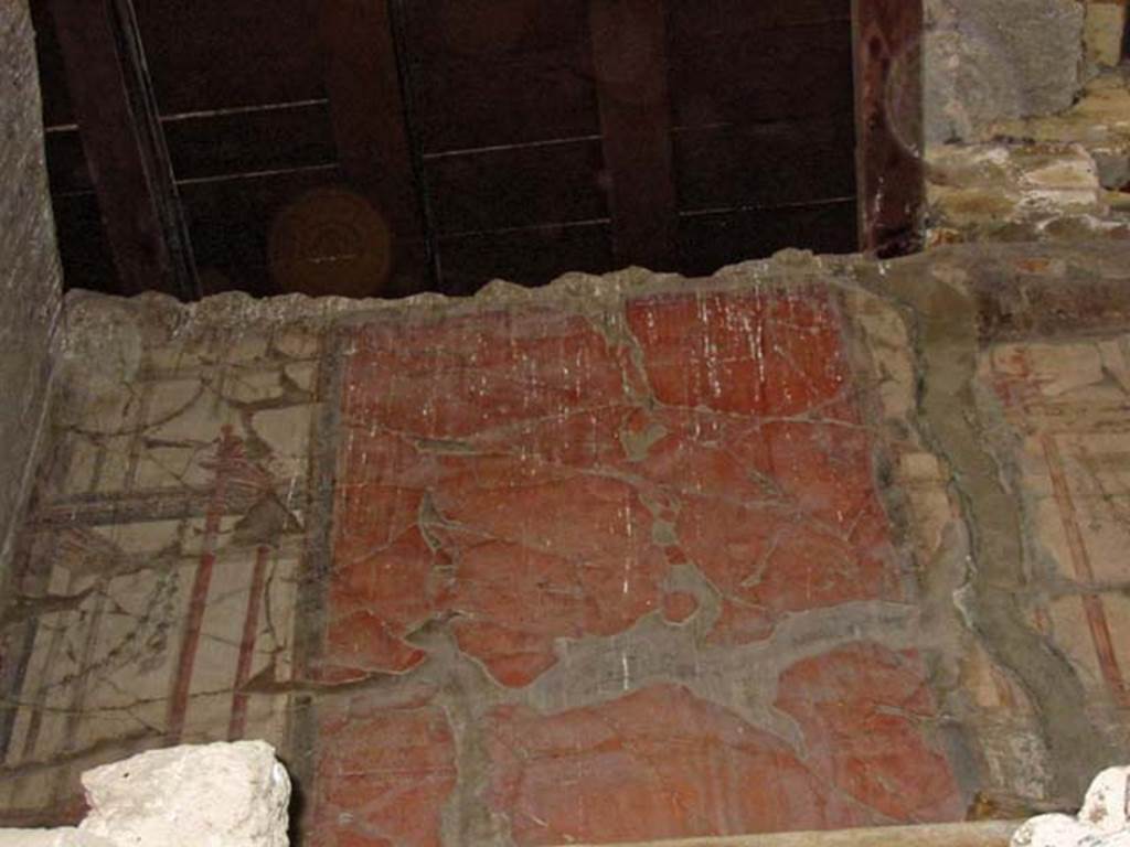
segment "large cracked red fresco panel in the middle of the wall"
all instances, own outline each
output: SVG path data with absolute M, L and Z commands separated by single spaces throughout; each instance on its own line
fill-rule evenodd
M 799 748 L 694 680 L 600 697 L 581 686 L 553 711 L 527 697 L 564 672 L 563 644 L 707 614 L 677 569 L 716 592 L 712 656 L 814 610 L 911 602 L 857 391 L 836 308 L 815 289 L 359 328 L 323 673 L 434 673 L 441 660 L 416 632 L 443 622 L 503 704 L 469 731 L 485 769 L 475 792 L 520 845 L 960 817 L 913 653 L 854 641 L 786 662 L 774 709 Z M 427 765 L 394 780 L 414 797 L 394 814 L 381 811 L 386 769 L 345 779 L 334 765 L 321 796 L 368 810 L 372 826 L 320 815 L 324 837 L 436 842 L 455 785 L 436 702 L 410 719 L 376 708 L 350 732 L 328 718 L 324 761 L 350 756 L 358 734 L 394 737 L 408 722 L 407 737 L 424 722 L 419 752 L 398 754 Z M 405 815 L 418 817 L 412 835 Z

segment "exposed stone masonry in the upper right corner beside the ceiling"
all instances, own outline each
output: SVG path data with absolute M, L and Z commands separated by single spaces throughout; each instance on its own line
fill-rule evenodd
M 1127 5 L 928 0 L 927 244 L 1130 237 Z

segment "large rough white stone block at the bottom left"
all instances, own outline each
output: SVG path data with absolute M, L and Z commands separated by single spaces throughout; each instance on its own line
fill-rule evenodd
M 287 847 L 290 779 L 261 741 L 153 750 L 82 775 L 80 829 L 115 847 Z

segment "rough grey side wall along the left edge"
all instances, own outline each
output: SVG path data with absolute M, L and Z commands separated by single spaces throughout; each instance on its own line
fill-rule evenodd
M 25 497 L 60 314 L 27 0 L 0 3 L 0 573 Z

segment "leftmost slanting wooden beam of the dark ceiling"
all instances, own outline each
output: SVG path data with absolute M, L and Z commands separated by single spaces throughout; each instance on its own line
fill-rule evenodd
M 51 14 L 122 292 L 198 297 L 132 0 L 51 0 Z

